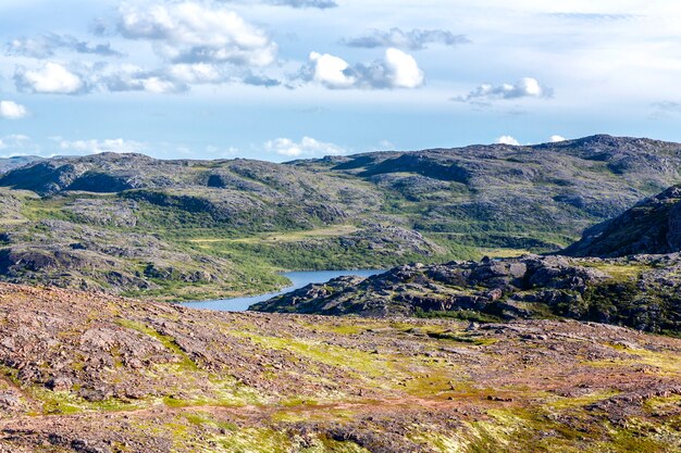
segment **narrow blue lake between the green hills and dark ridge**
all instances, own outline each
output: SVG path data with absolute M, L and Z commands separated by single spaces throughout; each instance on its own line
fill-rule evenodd
M 249 298 L 222 299 L 216 301 L 187 302 L 183 305 L 191 309 L 208 309 L 219 312 L 244 312 L 255 303 L 267 301 L 275 295 L 294 291 L 310 284 L 324 284 L 332 278 L 343 277 L 345 275 L 358 275 L 360 277 L 370 277 L 381 274 L 384 270 L 306 270 L 289 272 L 282 274 L 292 281 L 292 286 L 284 288 L 278 292 L 270 292 L 268 294 L 252 295 Z

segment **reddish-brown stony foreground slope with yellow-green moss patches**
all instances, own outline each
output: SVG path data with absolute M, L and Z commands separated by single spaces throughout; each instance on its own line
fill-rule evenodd
M 0 452 L 673 453 L 680 382 L 681 340 L 594 323 L 227 314 L 0 284 Z

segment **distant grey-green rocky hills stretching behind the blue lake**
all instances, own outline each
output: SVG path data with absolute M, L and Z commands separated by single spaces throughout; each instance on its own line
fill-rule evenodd
M 0 279 L 187 300 L 281 269 L 559 250 L 681 183 L 681 144 L 594 136 L 273 164 L 54 158 L 0 176 Z

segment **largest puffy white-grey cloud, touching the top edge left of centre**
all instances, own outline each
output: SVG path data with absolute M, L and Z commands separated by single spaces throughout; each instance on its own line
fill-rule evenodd
M 123 5 L 119 33 L 148 40 L 173 63 L 231 63 L 262 67 L 274 62 L 277 46 L 268 34 L 234 11 L 200 2 Z

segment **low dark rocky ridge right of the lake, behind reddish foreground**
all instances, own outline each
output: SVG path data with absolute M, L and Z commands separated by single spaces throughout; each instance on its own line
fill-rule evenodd
M 680 275 L 678 253 L 631 260 L 525 255 L 417 264 L 368 278 L 309 285 L 250 310 L 487 322 L 565 316 L 679 335 Z

